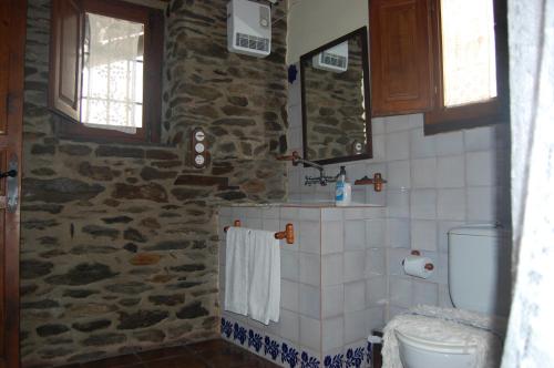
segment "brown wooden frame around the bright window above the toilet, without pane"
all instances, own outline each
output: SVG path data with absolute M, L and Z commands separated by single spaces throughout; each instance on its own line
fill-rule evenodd
M 444 106 L 440 1 L 431 0 L 431 21 L 433 24 L 431 39 L 434 49 L 433 79 L 435 86 L 434 108 L 424 113 L 424 133 L 437 134 L 507 122 L 510 119 L 510 92 L 507 78 L 506 0 L 493 0 L 497 96 L 489 101 L 453 108 Z

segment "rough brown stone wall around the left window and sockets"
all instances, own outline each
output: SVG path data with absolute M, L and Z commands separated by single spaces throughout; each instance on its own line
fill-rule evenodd
M 161 145 L 60 140 L 47 109 L 49 0 L 29 0 L 21 243 L 25 367 L 216 336 L 217 205 L 286 195 L 284 20 L 266 59 L 226 50 L 226 0 L 166 12 Z M 283 18 L 286 2 L 275 9 Z M 193 170 L 202 126 L 212 163 Z M 222 224 L 223 225 L 223 224 Z

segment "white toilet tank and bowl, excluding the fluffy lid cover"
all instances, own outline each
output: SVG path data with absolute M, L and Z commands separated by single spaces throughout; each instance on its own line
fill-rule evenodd
M 509 234 L 492 226 L 449 232 L 449 289 L 458 309 L 507 316 L 510 308 Z M 394 330 L 404 368 L 473 367 L 475 347 L 445 344 Z

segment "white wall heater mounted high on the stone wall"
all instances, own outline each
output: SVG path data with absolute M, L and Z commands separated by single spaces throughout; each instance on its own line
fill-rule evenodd
M 271 9 L 248 1 L 227 3 L 227 49 L 230 52 L 265 58 L 271 52 Z

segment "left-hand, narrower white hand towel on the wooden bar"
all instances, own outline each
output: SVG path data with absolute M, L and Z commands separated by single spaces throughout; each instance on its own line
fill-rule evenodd
M 247 228 L 228 228 L 225 257 L 224 308 L 246 316 L 249 287 L 248 260 L 250 258 L 250 234 Z

